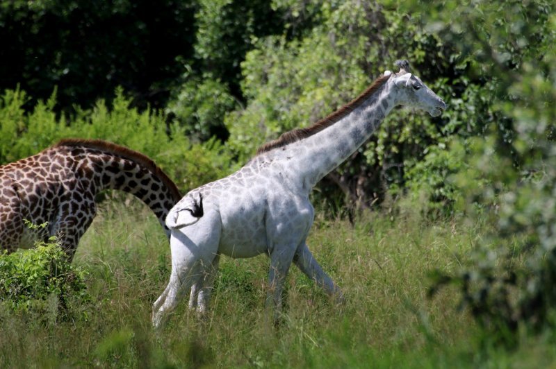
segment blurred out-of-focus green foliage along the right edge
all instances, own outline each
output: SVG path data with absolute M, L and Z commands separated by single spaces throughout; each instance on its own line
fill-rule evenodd
M 457 175 L 461 209 L 496 227 L 473 263 L 439 283 L 461 286 L 477 320 L 512 342 L 521 325 L 554 327 L 556 292 L 556 19 L 548 1 L 444 4 L 431 12 L 445 38 L 461 41 L 462 58 L 489 76 L 495 117 L 484 140 L 473 140 Z M 465 30 L 465 31 L 463 31 Z M 523 268 L 515 250 L 525 249 Z

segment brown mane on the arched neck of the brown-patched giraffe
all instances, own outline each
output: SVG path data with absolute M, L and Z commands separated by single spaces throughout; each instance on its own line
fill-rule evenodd
M 166 173 L 164 173 L 163 170 L 151 160 L 151 158 L 147 155 L 139 153 L 138 151 L 133 151 L 131 148 L 126 148 L 101 139 L 62 139 L 52 147 L 58 146 L 85 146 L 87 148 L 95 148 L 97 150 L 108 151 L 108 153 L 113 153 L 120 157 L 138 162 L 162 180 L 168 191 L 170 191 L 170 194 L 172 194 L 172 198 L 174 198 L 176 202 L 181 200 L 181 194 L 176 184 L 170 180 Z

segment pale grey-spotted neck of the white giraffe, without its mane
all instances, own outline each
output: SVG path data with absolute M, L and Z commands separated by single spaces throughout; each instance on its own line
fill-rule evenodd
M 382 123 L 395 103 L 390 94 L 391 85 L 370 95 L 352 112 L 325 130 L 301 141 L 278 148 L 286 155 L 286 170 L 291 178 L 301 181 L 304 189 L 311 190 L 327 173 L 347 160 L 363 145 Z

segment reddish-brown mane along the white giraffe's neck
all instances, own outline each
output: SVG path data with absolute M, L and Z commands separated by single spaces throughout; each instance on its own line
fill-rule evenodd
M 288 144 L 291 144 L 292 142 L 300 141 L 301 139 L 315 135 L 317 132 L 320 132 L 321 130 L 324 130 L 329 126 L 332 126 L 332 124 L 336 123 L 347 114 L 350 114 L 350 112 L 352 112 L 355 108 L 359 107 L 359 105 L 361 105 L 363 101 L 366 101 L 369 96 L 377 92 L 377 90 L 382 87 L 382 85 L 384 85 L 388 78 L 390 78 L 390 76 L 380 76 L 373 83 L 371 83 L 371 85 L 365 91 L 363 91 L 362 94 L 357 96 L 357 98 L 354 98 L 350 103 L 343 105 L 341 108 L 339 108 L 332 114 L 329 114 L 327 117 L 320 119 L 320 121 L 313 123 L 312 126 L 306 128 L 297 128 L 295 130 L 282 133 L 282 135 L 274 141 L 267 142 L 266 144 L 261 146 L 256 151 L 256 155 L 266 153 L 273 148 L 286 146 Z

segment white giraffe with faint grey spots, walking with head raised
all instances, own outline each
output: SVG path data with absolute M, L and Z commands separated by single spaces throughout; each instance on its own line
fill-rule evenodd
M 395 106 L 425 110 L 432 117 L 446 107 L 411 74 L 406 60 L 396 65 L 397 74 L 384 72 L 351 103 L 309 128 L 265 144 L 236 173 L 190 191 L 172 208 L 166 218 L 172 230 L 172 274 L 153 305 L 155 327 L 190 289 L 190 307 L 206 310 L 221 254 L 270 257 L 267 304 L 275 312 L 292 261 L 329 295 L 343 299 L 306 245 L 314 213 L 311 189 L 354 153 Z

